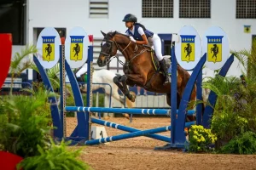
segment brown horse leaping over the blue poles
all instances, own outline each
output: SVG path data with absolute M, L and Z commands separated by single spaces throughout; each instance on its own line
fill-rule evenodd
M 117 31 L 102 32 L 102 35 L 104 38 L 101 44 L 101 52 L 97 59 L 97 65 L 100 67 L 107 65 L 113 56 L 119 60 L 119 57 L 116 56 L 118 50 L 124 55 L 125 63 L 122 63 L 120 60 L 119 63 L 123 65 L 125 75 L 113 77 L 113 82 L 123 94 L 134 102 L 136 95 L 129 92 L 127 85 L 131 87 L 137 85 L 150 92 L 166 94 L 167 104 L 172 106 L 171 82 L 164 84 L 165 77 L 160 71 L 160 64 L 154 54 L 154 50 L 147 45 L 132 42 L 129 36 Z M 164 56 L 168 68 L 171 65 L 169 57 Z M 189 77 L 189 72 L 177 64 L 177 109 L 179 108 L 180 100 Z M 190 101 L 195 101 L 195 99 L 196 85 L 194 84 Z M 187 118 L 189 118 L 189 121 L 195 121 L 195 116 L 187 116 Z

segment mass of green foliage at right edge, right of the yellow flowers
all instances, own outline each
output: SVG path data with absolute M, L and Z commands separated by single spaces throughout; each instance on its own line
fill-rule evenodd
M 243 77 L 217 75 L 203 82 L 202 87 L 218 95 L 213 107 L 211 129 L 218 137 L 218 144 L 229 142 L 222 147 L 221 152 L 251 154 L 255 153 L 253 139 L 256 132 L 256 40 L 253 41 L 252 49 L 231 53 L 240 61 Z

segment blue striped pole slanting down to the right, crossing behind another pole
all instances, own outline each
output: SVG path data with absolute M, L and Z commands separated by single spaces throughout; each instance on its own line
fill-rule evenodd
M 123 131 L 129 132 L 129 133 L 135 133 L 135 132 L 140 132 L 141 131 L 137 128 L 126 127 L 126 126 L 123 126 L 123 125 L 119 125 L 117 123 L 102 121 L 102 120 L 96 119 L 96 118 L 91 118 L 90 121 L 93 122 L 93 123 L 96 123 L 96 124 L 103 125 L 103 126 L 113 127 L 113 128 L 119 129 L 119 130 L 123 130 Z M 168 142 L 168 143 L 171 142 L 171 138 L 166 137 L 166 136 L 162 136 L 160 134 L 149 134 L 147 136 L 148 136 L 148 138 L 158 139 L 158 140 Z

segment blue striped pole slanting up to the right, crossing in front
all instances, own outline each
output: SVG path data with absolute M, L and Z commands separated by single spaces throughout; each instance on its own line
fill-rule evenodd
M 84 144 L 88 144 L 88 145 L 102 144 L 102 143 L 117 141 L 117 140 L 121 140 L 121 139 L 130 139 L 130 138 L 135 138 L 138 136 L 146 136 L 146 135 L 149 135 L 152 133 L 162 133 L 162 132 L 170 131 L 171 128 L 172 128 L 171 126 L 167 126 L 167 127 L 158 127 L 158 128 L 154 128 L 154 129 L 138 131 L 135 133 L 125 133 L 125 134 L 120 134 L 120 135 L 116 135 L 116 136 L 111 136 L 108 138 L 88 140 Z

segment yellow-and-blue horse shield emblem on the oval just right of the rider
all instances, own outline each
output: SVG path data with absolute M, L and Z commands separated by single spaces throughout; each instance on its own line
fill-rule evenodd
M 181 35 L 181 58 L 182 61 L 195 61 L 195 36 Z

